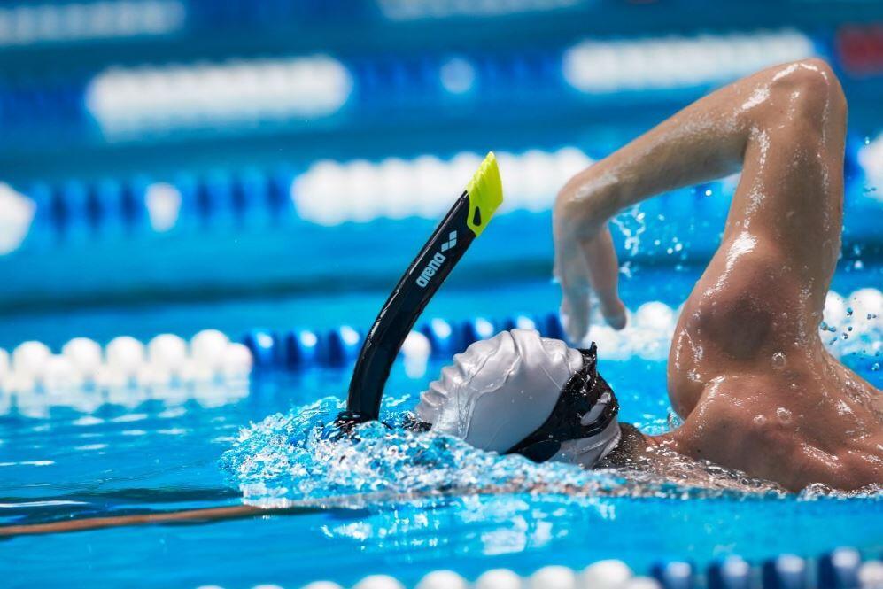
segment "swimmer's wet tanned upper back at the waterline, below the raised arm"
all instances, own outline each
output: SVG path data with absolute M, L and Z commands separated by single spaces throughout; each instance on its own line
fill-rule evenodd
M 739 469 L 797 491 L 821 483 L 839 489 L 883 484 L 883 438 L 869 415 L 843 415 L 840 398 L 811 378 L 768 373 L 714 379 L 672 434 L 679 453 Z M 859 422 L 866 436 L 854 435 Z

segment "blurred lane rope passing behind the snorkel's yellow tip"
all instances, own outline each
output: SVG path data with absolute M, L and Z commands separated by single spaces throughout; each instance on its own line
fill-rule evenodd
M 863 224 L 863 215 L 875 211 L 883 198 L 883 191 L 874 188 L 875 183 L 883 181 L 883 167 L 877 163 L 881 150 L 883 136 L 848 150 L 849 165 L 861 172 L 850 177 L 845 202 L 848 219 L 852 219 L 853 239 L 876 238 L 876 227 Z M 554 151 L 503 151 L 498 159 L 501 174 L 515 187 L 500 213 L 550 210 L 556 188 L 593 162 L 572 145 Z M 23 187 L 22 193 L 33 201 L 35 228 L 59 236 L 135 229 L 162 233 L 182 226 L 201 229 L 213 224 L 272 226 L 295 219 L 330 227 L 378 219 L 434 219 L 445 212 L 448 181 L 462 177 L 464 170 L 474 169 L 480 161 L 481 155 L 470 151 L 448 159 L 431 154 L 380 161 L 321 159 L 298 169 L 215 168 L 202 173 L 181 171 L 165 178 L 136 174 L 89 182 L 75 178 L 38 181 Z M 678 215 L 698 211 L 703 218 L 723 219 L 737 183 L 738 175 L 706 182 L 648 201 L 639 211 L 649 220 L 664 220 L 672 211 Z M 420 198 L 414 198 L 415 187 Z M 622 218 L 617 217 L 620 222 Z M 641 232 L 647 229 L 640 244 L 642 251 L 665 252 L 671 236 L 652 222 L 646 227 L 643 221 L 640 224 Z M 28 225 L 29 221 L 24 224 L 26 231 Z M 694 252 L 707 252 L 718 241 L 718 229 L 716 223 L 707 229 L 692 229 L 681 236 L 687 243 L 677 245 L 675 239 L 671 246 L 678 252 L 684 246 Z M 633 244 L 636 248 L 638 245 Z

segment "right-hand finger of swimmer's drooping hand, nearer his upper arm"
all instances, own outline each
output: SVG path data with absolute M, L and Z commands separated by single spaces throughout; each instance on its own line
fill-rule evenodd
M 607 225 L 592 239 L 580 243 L 589 283 L 598 296 L 600 312 L 613 329 L 625 327 L 625 306 L 619 298 L 619 260 Z

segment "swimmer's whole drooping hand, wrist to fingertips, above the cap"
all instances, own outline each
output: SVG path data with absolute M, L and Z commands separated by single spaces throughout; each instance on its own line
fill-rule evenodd
M 562 323 L 570 341 L 577 344 L 589 330 L 592 294 L 610 327 L 625 327 L 619 262 L 608 228 L 609 205 L 600 195 L 586 194 L 580 180 L 577 175 L 562 189 L 553 211 L 554 274 L 562 287 Z

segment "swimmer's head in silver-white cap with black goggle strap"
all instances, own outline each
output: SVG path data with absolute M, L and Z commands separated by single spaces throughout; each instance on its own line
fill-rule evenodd
M 417 415 L 482 450 L 591 468 L 619 440 L 617 409 L 594 349 L 512 329 L 455 355 L 422 393 Z

